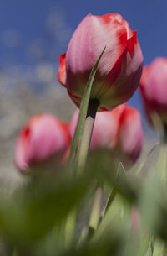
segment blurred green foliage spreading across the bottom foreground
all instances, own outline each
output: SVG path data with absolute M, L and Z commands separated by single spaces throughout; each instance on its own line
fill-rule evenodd
M 90 154 L 77 177 L 61 171 L 32 175 L 13 195 L 0 197 L 1 255 L 165 255 L 167 190 L 160 172 L 118 175 L 118 161 L 106 150 Z M 80 228 L 66 245 L 68 216 L 77 212 L 76 228 L 95 184 L 114 188 L 116 196 L 91 238 L 82 240 Z M 140 234 L 131 227 L 132 206 L 140 213 Z

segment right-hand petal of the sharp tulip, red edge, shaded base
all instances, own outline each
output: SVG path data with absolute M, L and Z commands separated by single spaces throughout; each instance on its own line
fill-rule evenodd
M 142 68 L 143 55 L 134 31 L 133 36 L 127 41 L 126 49 L 115 63 L 113 71 L 110 71 L 104 81 L 101 104 L 110 109 L 132 97 L 139 85 Z

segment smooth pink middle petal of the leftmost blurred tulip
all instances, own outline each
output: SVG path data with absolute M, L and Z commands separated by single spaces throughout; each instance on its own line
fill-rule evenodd
M 50 114 L 43 117 L 30 123 L 32 133 L 28 147 L 28 162 L 47 159 L 66 147 L 62 126 L 58 120 Z

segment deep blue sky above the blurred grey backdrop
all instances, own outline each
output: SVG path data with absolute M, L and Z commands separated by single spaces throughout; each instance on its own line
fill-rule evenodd
M 34 60 L 28 55 L 28 50 L 33 49 L 33 42 L 36 43 L 36 50 L 38 45 L 46 50 L 44 56 L 38 53 L 40 58 L 48 58 L 56 65 L 58 55 L 66 50 L 73 30 L 88 13 L 94 15 L 120 13 L 131 28 L 137 30 L 144 54 L 144 64 L 148 64 L 156 56 L 167 56 L 166 9 L 166 0 L 2 0 L 0 2 L 0 67 L 13 64 L 33 65 Z M 53 34 L 48 33 L 49 29 L 47 30 L 49 13 L 53 12 L 55 15 L 59 13 L 60 23 L 56 25 L 59 26 L 56 28 L 59 29 L 58 38 L 54 38 Z M 55 22 L 54 20 L 54 26 Z M 10 41 L 11 36 L 15 40 Z M 140 108 L 139 96 L 135 94 L 130 103 Z

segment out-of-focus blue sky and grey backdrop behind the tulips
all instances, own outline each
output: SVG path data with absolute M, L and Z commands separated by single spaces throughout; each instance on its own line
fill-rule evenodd
M 75 109 L 58 85 L 58 56 L 88 13 L 120 13 L 136 29 L 144 65 L 167 55 L 166 0 L 1 0 L 0 1 L 0 181 L 18 182 L 13 149 L 28 118 L 52 112 L 68 121 Z M 138 92 L 129 104 L 142 113 L 147 141 L 154 132 L 144 118 Z M 150 139 L 149 139 L 150 138 Z

